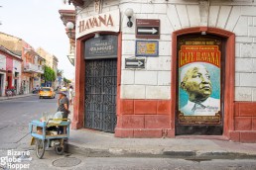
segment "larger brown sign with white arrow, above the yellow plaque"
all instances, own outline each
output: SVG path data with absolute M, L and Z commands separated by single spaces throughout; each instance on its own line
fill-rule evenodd
M 137 39 L 160 39 L 160 20 L 136 19 Z

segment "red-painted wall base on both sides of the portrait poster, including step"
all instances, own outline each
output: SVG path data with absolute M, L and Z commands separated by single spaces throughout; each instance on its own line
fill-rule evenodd
M 143 100 L 120 100 L 121 113 L 118 115 L 118 126 L 115 129 L 115 136 L 117 137 L 175 137 L 175 129 L 171 128 L 173 120 L 171 120 L 172 113 L 159 114 L 158 111 L 162 108 L 164 103 L 164 111 L 171 108 L 171 100 L 145 100 L 145 102 L 157 103 L 153 108 L 156 113 L 154 115 L 134 114 L 134 103 L 142 103 Z M 143 104 L 144 106 L 144 104 Z M 250 107 L 250 108 L 248 108 Z M 229 130 L 229 136 L 226 135 L 212 135 L 212 136 L 192 136 L 183 135 L 178 138 L 192 137 L 192 138 L 215 138 L 222 140 L 233 140 L 241 142 L 256 142 L 256 113 L 254 109 L 256 102 L 235 102 L 234 108 L 236 116 L 234 120 L 234 130 Z M 163 109 L 162 108 L 162 109 Z M 243 115 L 243 116 L 242 116 Z

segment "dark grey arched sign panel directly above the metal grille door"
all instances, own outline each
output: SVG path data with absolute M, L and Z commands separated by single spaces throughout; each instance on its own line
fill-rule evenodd
M 92 38 L 85 42 L 85 59 L 116 58 L 117 36 L 108 35 Z

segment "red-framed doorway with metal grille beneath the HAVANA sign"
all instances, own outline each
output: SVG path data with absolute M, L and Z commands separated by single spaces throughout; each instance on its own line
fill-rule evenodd
M 87 127 L 114 132 L 116 116 L 120 110 L 122 34 L 99 34 L 99 38 L 95 38 L 94 34 L 89 34 L 76 40 L 75 67 L 77 71 L 75 71 L 75 104 L 72 127 Z M 113 57 L 107 56 L 106 52 L 98 53 L 102 57 L 99 55 L 97 57 L 94 51 L 89 52 L 88 49 L 86 51 L 86 43 L 92 42 L 90 43 L 92 50 L 94 42 L 100 40 L 99 43 L 102 43 L 96 42 L 97 47 L 100 48 L 99 45 L 107 44 L 104 40 L 107 41 L 109 36 L 115 37 L 114 42 L 117 45 Z M 101 47 L 101 49 L 103 48 Z M 106 55 L 104 56 L 104 54 Z

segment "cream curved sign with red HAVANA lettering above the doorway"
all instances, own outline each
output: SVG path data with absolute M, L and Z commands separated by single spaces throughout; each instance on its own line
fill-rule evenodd
M 93 32 L 119 32 L 120 30 L 120 12 L 119 10 L 102 13 L 87 18 L 78 19 L 75 38 L 78 39 L 84 35 Z

